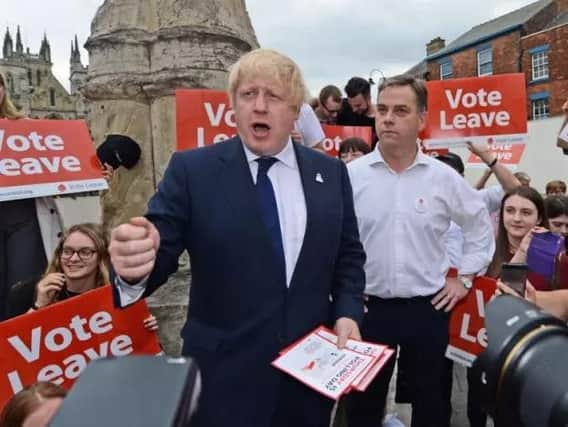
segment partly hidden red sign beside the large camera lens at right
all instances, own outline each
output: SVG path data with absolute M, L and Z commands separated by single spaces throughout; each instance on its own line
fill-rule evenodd
M 487 347 L 485 305 L 495 297 L 497 282 L 489 277 L 476 277 L 473 288 L 452 310 L 450 342 L 446 357 L 470 367 Z

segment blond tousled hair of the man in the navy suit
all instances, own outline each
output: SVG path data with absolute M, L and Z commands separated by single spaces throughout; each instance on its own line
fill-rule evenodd
M 306 99 L 306 84 L 298 65 L 286 55 L 272 49 L 255 49 L 243 55 L 229 73 L 228 92 L 231 105 L 235 106 L 237 88 L 245 78 L 265 77 L 274 80 L 285 89 L 290 106 L 300 111 Z

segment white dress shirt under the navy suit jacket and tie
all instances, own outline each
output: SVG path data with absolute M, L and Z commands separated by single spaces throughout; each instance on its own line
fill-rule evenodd
M 258 162 L 255 160 L 260 156 L 250 151 L 245 144 L 243 144 L 243 148 L 253 182 L 256 184 Z M 282 151 L 273 157 L 277 158 L 278 161 L 268 170 L 268 177 L 272 182 L 276 206 L 278 207 L 278 220 L 280 221 L 286 262 L 286 285 L 290 286 L 306 233 L 306 199 L 292 140 L 288 139 L 288 143 Z M 140 299 L 144 293 L 146 281 L 147 278 L 136 285 L 129 285 L 120 277 L 117 277 L 116 284 L 121 305 L 132 304 Z

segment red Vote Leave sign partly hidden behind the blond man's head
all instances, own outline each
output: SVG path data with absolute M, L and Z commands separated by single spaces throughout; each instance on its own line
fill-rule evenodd
M 176 91 L 177 149 L 205 147 L 237 134 L 235 113 L 226 92 L 219 90 L 179 89 Z M 371 145 L 370 127 L 322 126 L 322 141 L 327 154 L 337 157 L 345 138 L 359 137 Z

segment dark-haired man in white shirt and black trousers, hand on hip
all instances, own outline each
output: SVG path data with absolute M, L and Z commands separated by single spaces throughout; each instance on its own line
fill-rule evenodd
M 453 170 L 419 152 L 426 87 L 411 76 L 379 88 L 375 126 L 380 143 L 350 163 L 355 213 L 365 264 L 364 339 L 400 346 L 412 379 L 412 427 L 448 425 L 442 381 L 448 312 L 467 295 L 494 248 L 489 215 L 479 194 Z M 464 235 L 459 276 L 444 236 L 454 221 Z M 348 399 L 350 427 L 380 425 L 394 360 L 365 393 Z

